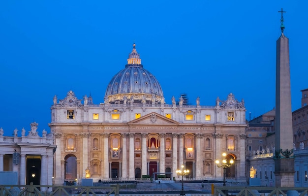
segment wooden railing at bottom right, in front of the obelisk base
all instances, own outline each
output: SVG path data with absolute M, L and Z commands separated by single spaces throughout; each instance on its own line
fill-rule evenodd
M 308 192 L 308 187 L 240 187 L 240 186 L 225 186 L 215 187 L 214 196 L 287 196 L 287 192 L 294 196 L 305 196 Z M 292 193 L 292 194 L 291 194 Z M 298 193 L 298 194 L 297 194 Z

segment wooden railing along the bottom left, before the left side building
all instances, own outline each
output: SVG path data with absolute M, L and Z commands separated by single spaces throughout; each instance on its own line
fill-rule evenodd
M 68 190 L 73 191 L 71 193 Z M 80 187 L 33 185 L 31 183 L 31 185 L 0 185 L 0 196 L 96 196 L 97 194 L 119 196 L 119 190 L 119 184 L 116 187 Z

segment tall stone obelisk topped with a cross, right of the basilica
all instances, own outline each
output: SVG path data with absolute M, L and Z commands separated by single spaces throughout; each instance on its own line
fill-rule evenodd
M 284 36 L 281 8 L 281 35 L 277 40 L 276 54 L 276 132 L 275 176 L 277 187 L 294 187 L 294 154 L 291 109 L 291 82 L 289 39 Z

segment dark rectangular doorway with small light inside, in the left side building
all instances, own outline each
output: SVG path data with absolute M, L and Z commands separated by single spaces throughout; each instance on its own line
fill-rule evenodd
M 46 176 L 47 177 L 47 176 Z M 39 158 L 27 159 L 27 179 L 26 184 L 40 185 L 41 183 L 41 160 Z

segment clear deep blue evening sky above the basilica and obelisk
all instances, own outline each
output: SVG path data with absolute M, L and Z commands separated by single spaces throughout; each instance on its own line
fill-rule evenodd
M 275 106 L 280 13 L 290 41 L 292 111 L 308 88 L 307 0 L 1 0 L 0 127 L 50 131 L 54 95 L 103 102 L 136 43 L 166 103 L 245 99 L 246 119 Z M 306 81 L 306 82 L 305 82 Z

